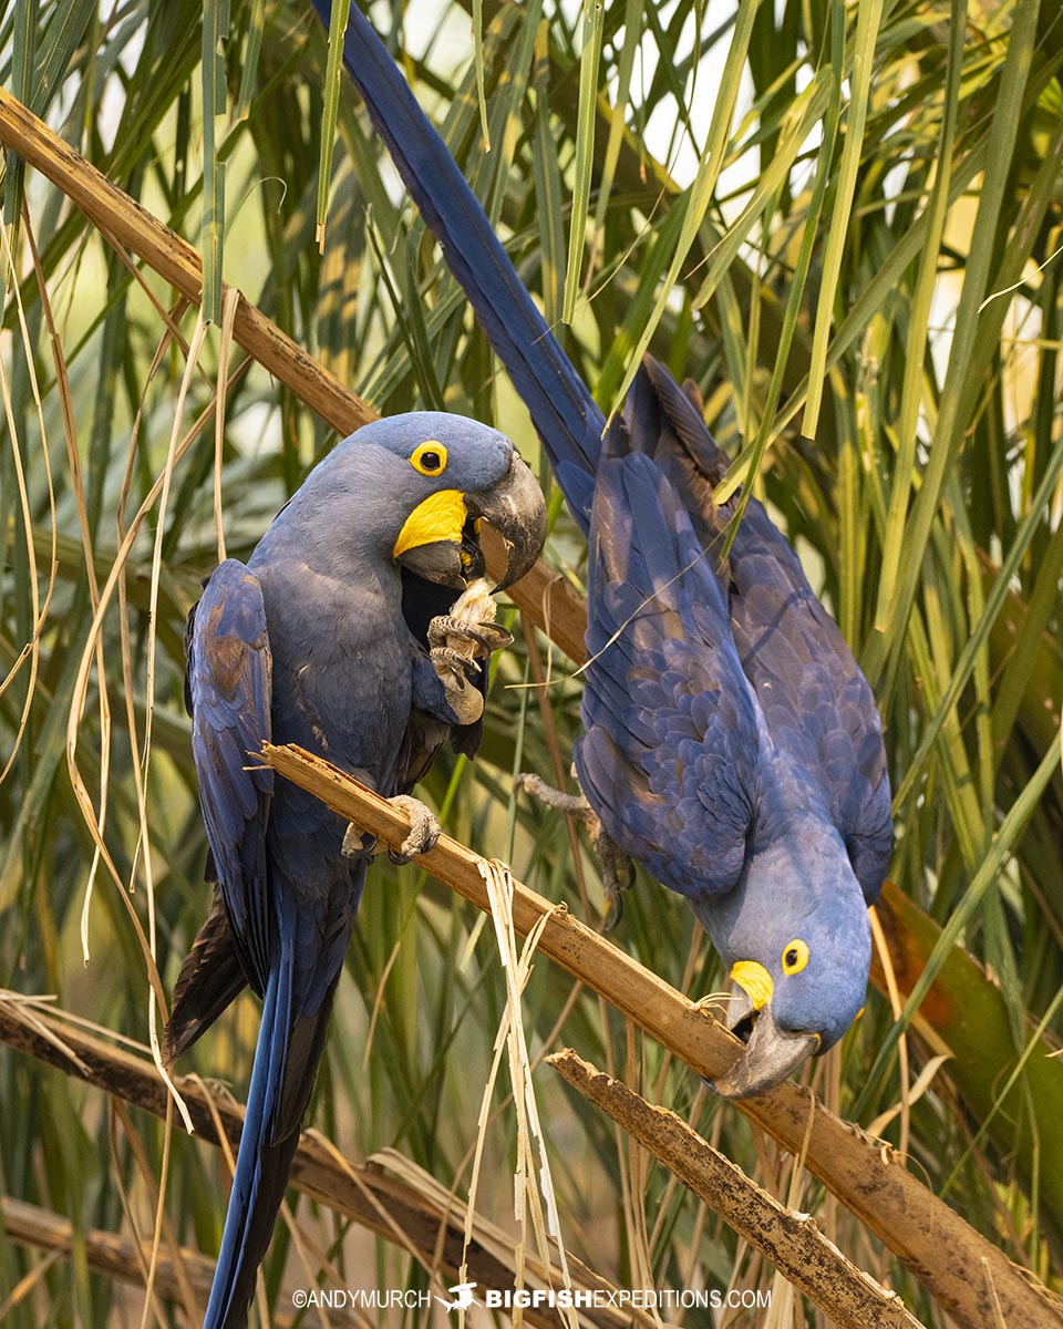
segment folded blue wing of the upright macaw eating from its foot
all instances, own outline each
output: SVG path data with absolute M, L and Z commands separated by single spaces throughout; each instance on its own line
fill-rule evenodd
M 274 780 L 254 755 L 271 735 L 271 674 L 262 587 L 229 558 L 190 617 L 186 680 L 207 840 L 233 942 L 259 997 L 270 975 L 266 825 Z

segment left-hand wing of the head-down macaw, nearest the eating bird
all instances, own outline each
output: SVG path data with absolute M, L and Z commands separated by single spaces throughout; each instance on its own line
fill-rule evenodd
M 658 880 L 688 897 L 728 890 L 756 804 L 756 699 L 683 498 L 644 452 L 599 466 L 589 598 L 579 784 Z

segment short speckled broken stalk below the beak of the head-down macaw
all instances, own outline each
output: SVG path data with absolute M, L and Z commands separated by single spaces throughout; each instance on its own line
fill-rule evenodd
M 844 1329 L 919 1329 L 896 1292 L 858 1269 L 809 1215 L 780 1204 L 675 1112 L 647 1103 L 571 1047 L 546 1061 L 684 1185 L 761 1251 L 799 1292 Z

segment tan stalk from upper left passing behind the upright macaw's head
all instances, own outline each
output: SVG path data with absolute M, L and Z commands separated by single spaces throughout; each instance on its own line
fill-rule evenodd
M 3 88 L 0 144 L 62 190 L 110 245 L 136 254 L 186 299 L 199 303 L 203 268 L 191 245 L 112 185 Z M 233 339 L 340 435 L 353 433 L 377 419 L 367 401 L 318 364 L 243 295 L 237 304 Z M 505 566 L 498 545 L 493 553 L 492 558 L 489 548 L 489 566 L 498 570 Z M 563 577 L 539 561 L 528 577 L 509 587 L 508 594 L 539 627 L 549 623 L 551 639 L 563 651 L 573 658 L 582 657 L 586 609 Z

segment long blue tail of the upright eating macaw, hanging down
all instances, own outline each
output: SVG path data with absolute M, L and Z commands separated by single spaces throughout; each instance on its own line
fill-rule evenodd
M 292 1019 L 291 964 L 282 960 L 270 974 L 203 1329 L 243 1329 L 247 1324 L 258 1267 L 284 1199 L 331 1009 L 330 989 L 312 1015 Z

